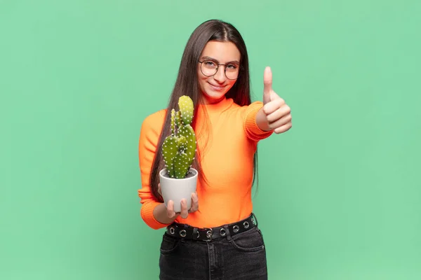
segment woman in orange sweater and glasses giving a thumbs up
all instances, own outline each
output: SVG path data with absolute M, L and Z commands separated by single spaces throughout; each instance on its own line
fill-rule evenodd
M 290 108 L 272 90 L 264 73 L 262 102 L 250 101 L 248 55 L 239 31 L 208 20 L 187 41 L 167 109 L 142 123 L 139 160 L 142 219 L 165 228 L 159 259 L 160 279 L 267 279 L 265 243 L 252 213 L 258 141 L 290 129 Z M 163 203 L 159 171 L 161 146 L 170 132 L 178 98 L 192 98 L 199 171 L 192 207 Z

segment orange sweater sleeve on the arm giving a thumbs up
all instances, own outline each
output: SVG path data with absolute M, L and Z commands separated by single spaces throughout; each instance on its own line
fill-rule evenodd
M 247 106 L 245 116 L 243 118 L 244 131 L 246 132 L 248 139 L 256 142 L 265 139 L 274 133 L 273 130 L 260 130 L 258 124 L 256 123 L 256 115 L 262 107 L 262 102 L 253 102 Z

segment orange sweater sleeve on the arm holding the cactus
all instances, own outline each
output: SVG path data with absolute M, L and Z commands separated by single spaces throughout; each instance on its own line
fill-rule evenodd
M 159 228 L 164 228 L 167 226 L 166 224 L 156 221 L 154 218 L 154 209 L 156 206 L 161 204 L 161 202 L 158 202 L 154 198 L 149 186 L 149 176 L 160 134 L 160 130 L 157 128 L 160 128 L 161 125 L 162 122 L 159 122 L 158 118 L 156 118 L 156 115 L 148 116 L 142 123 L 139 139 L 139 165 L 142 181 L 142 188 L 138 190 L 140 203 L 142 204 L 140 209 L 140 216 L 142 217 L 143 221 L 145 221 L 145 223 L 154 230 L 158 230 Z

